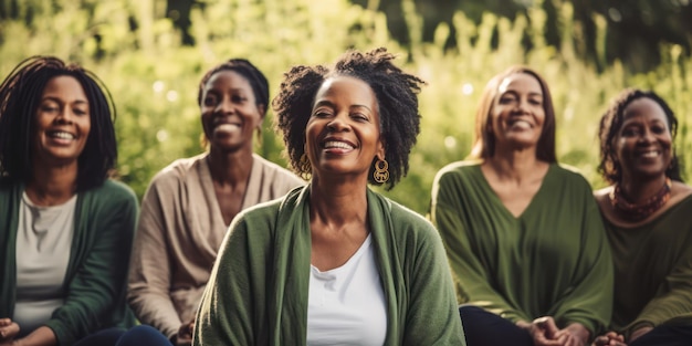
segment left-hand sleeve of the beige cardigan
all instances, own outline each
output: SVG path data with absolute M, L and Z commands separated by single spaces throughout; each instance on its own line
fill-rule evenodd
M 155 179 L 145 193 L 135 234 L 127 301 L 141 323 L 161 331 L 168 338 L 182 324 L 170 297 L 171 268 L 165 239 L 164 203 L 170 192 Z

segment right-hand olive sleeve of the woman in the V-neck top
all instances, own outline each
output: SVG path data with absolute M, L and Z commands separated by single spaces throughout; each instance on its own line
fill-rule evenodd
M 579 177 L 580 178 L 580 177 Z M 562 325 L 580 323 L 591 336 L 605 331 L 612 312 L 614 266 L 606 230 L 591 189 L 584 180 L 583 192 L 573 197 L 581 201 L 581 255 L 573 284 L 554 307 L 555 317 Z M 568 197 L 565 197 L 568 198 Z

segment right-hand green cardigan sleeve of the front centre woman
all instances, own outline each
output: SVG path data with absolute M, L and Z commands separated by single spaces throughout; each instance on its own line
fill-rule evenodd
M 454 286 L 437 231 L 428 231 L 418 243 L 411 275 L 411 297 L 406 318 L 405 345 L 466 345 L 454 298 Z

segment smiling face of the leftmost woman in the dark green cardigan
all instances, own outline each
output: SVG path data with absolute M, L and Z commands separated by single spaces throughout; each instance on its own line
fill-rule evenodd
M 88 99 L 82 84 L 67 75 L 51 78 L 36 108 L 34 159 L 76 165 L 91 126 Z

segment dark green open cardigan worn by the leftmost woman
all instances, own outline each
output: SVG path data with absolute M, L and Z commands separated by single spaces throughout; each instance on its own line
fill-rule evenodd
M 17 296 L 17 228 L 24 187 L 0 186 L 0 318 L 12 317 Z M 77 196 L 74 237 L 65 275 L 65 304 L 45 323 L 59 345 L 72 345 L 101 328 L 129 327 L 127 269 L 137 221 L 137 198 L 106 180 Z M 21 327 L 21 326 L 20 326 Z

